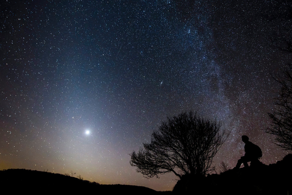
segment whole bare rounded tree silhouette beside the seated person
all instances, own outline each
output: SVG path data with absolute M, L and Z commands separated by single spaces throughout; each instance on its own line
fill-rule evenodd
M 130 163 L 147 178 L 169 172 L 180 179 L 184 174 L 206 175 L 213 171 L 213 157 L 227 136 L 217 121 L 182 112 L 167 117 L 152 133 L 150 144 L 130 154 Z

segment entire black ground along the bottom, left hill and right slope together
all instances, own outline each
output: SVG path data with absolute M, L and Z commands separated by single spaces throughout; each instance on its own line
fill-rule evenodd
M 58 173 L 26 169 L 0 171 L 0 185 L 8 192 L 30 193 L 127 193 L 127 194 L 277 194 L 292 193 L 292 154 L 275 164 L 227 170 L 195 178 L 184 175 L 173 191 L 155 191 L 132 185 L 105 185 Z

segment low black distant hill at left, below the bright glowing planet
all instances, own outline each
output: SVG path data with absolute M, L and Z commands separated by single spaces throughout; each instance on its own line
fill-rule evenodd
M 87 180 L 80 180 L 57 173 L 42 172 L 26 169 L 8 169 L 0 171 L 0 186 L 2 191 L 8 189 L 9 193 L 29 192 L 39 193 L 117 193 L 121 194 L 165 194 L 142 186 L 131 185 L 103 185 Z

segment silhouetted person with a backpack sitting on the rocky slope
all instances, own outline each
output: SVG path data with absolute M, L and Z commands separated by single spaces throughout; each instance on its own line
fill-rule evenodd
M 244 167 L 248 167 L 247 162 L 251 162 L 251 164 L 258 164 L 260 163 L 259 158 L 262 157 L 262 150 L 260 147 L 248 141 L 249 138 L 246 135 L 243 135 L 241 139 L 245 143 L 245 154 L 237 161 L 236 167 L 234 167 L 234 169 L 239 169 L 242 163 L 244 164 Z

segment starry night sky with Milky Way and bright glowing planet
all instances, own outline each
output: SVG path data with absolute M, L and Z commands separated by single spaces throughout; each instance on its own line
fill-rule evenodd
M 292 62 L 292 3 L 97 0 L 0 3 L 0 169 L 81 175 L 172 190 L 129 154 L 166 116 L 194 110 L 230 131 L 213 163 L 244 155 L 241 135 L 275 163 L 267 112 Z

